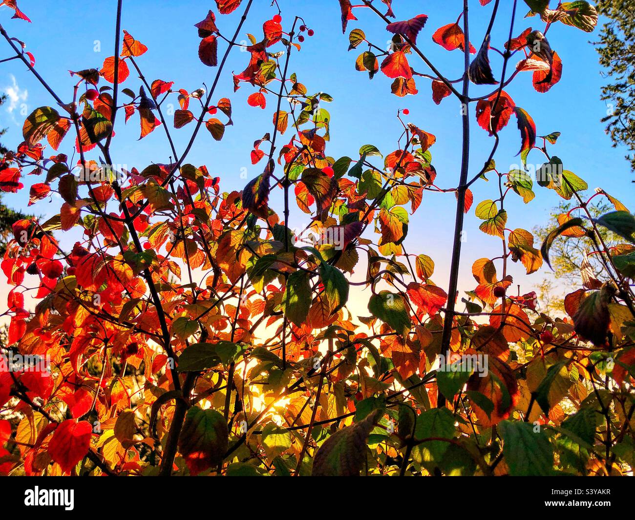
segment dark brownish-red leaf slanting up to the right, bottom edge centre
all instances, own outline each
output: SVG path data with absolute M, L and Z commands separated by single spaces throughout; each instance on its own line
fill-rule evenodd
M 313 459 L 312 476 L 359 476 L 366 460 L 366 440 L 381 415 L 381 410 L 375 410 L 364 420 L 337 430 L 328 437 Z

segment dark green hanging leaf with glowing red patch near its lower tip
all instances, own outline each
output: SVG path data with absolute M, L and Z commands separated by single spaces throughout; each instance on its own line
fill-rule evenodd
M 223 461 L 229 448 L 229 430 L 221 413 L 192 406 L 185 415 L 178 447 L 194 475 Z

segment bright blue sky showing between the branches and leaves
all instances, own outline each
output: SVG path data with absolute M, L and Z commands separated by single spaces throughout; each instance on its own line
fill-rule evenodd
M 206 16 L 213 4 L 210 0 L 124 1 L 123 28 L 149 47 L 149 51 L 138 58 L 138 63 L 150 81 L 175 81 L 175 88 L 185 88 L 188 91 L 199 88 L 203 81 L 211 84 L 216 69 L 210 69 L 199 61 L 199 39 L 193 25 Z M 270 4 L 268 0 L 255 0 L 241 38 L 246 40 L 244 34 L 250 32 L 260 39 L 262 22 L 277 12 Z M 384 8 L 383 4 L 377 4 Z M 70 100 L 74 81 L 67 70 L 100 68 L 104 58 L 113 54 L 116 1 L 86 3 L 65 0 L 60 3 L 22 0 L 19 5 L 33 23 L 10 20 L 11 11 L 0 8 L 1 23 L 11 36 L 27 43 L 27 50 L 36 57 L 36 68 L 40 74 L 62 98 Z M 369 81 L 368 74 L 357 72 L 354 62 L 364 49 L 360 47 L 347 52 L 348 38 L 342 34 L 340 10 L 335 0 L 279 0 L 279 5 L 283 11 L 285 28 L 293 20 L 293 15 L 300 14 L 316 33 L 314 37 L 307 37 L 301 53 L 294 53 L 291 71 L 297 72 L 298 80 L 307 86 L 310 93 L 324 91 L 335 98 L 333 103 L 325 105 L 332 117 L 328 154 L 336 159 L 341 156 L 358 157 L 359 147 L 367 143 L 376 145 L 384 155 L 389 154 L 397 149 L 396 140 L 400 134 L 396 111 L 408 108 L 410 115 L 405 118 L 406 121 L 417 124 L 437 137 L 437 142 L 431 149 L 433 163 L 438 171 L 437 185 L 442 188 L 455 187 L 460 167 L 458 102 L 448 97 L 441 105 L 435 105 L 431 100 L 430 83 L 424 78 L 417 78 L 417 96 L 398 98 L 390 92 L 391 79 L 379 73 Z M 477 47 L 485 32 L 492 6 L 493 3 L 482 7 L 478 0 L 471 0 L 471 40 Z M 426 27 L 418 36 L 420 48 L 447 77 L 460 77 L 462 53 L 458 50 L 443 50 L 432 42 L 431 36 L 441 25 L 457 19 L 462 2 L 396 0 L 394 8 L 398 20 L 421 13 L 429 16 Z M 518 36 L 526 27 L 544 29 L 544 23 L 537 17 L 523 19 L 526 10 L 525 4 L 519 2 L 514 36 Z M 232 15 L 218 17 L 218 27 L 225 36 L 231 37 L 242 11 L 241 6 Z M 368 39 L 384 46 L 389 39 L 385 23 L 370 10 L 357 9 L 355 13 L 359 22 L 350 22 L 349 30 L 363 29 Z M 502 48 L 507 40 L 510 17 L 511 2 L 504 1 L 493 32 L 493 46 Z M 600 119 L 606 115 L 607 107 L 605 102 L 599 100 L 600 87 L 604 80 L 600 75 L 596 51 L 589 44 L 589 40 L 594 39 L 596 34 L 587 34 L 559 23 L 554 25 L 547 36 L 552 48 L 558 51 L 563 60 L 563 79 L 549 93 L 539 94 L 531 87 L 531 74 L 525 72 L 519 74 L 506 90 L 518 106 L 531 114 L 537 124 L 538 135 L 546 135 L 552 131 L 562 133 L 558 144 L 552 147 L 552 154 L 563 160 L 567 170 L 584 178 L 590 189 L 601 186 L 632 209 L 635 207 L 635 197 L 630 183 L 632 175 L 623 158 L 624 150 L 611 147 L 603 124 L 600 123 Z M 95 40 L 101 43 L 100 52 L 94 50 Z M 0 42 L 0 49 L 3 50 L 0 51 L 0 57 L 10 56 L 10 48 L 4 41 Z M 220 43 L 219 52 L 224 50 L 224 44 Z M 495 76 L 500 77 L 502 58 L 495 53 L 490 53 L 490 58 Z M 248 179 L 262 171 L 264 163 L 251 166 L 250 150 L 254 140 L 272 130 L 271 118 L 275 110 L 273 98 L 268 98 L 267 109 L 260 110 L 246 104 L 246 97 L 254 91 L 250 85 L 246 84 L 235 94 L 233 92 L 229 72 L 241 72 L 247 61 L 248 54 L 237 50 L 231 53 L 226 74 L 215 94 L 214 101 L 221 97 L 231 98 L 234 126 L 227 128 L 221 143 L 214 142 L 206 131 L 201 131 L 187 160 L 197 165 L 206 164 L 210 173 L 222 178 L 222 189 L 226 191 L 242 189 Z M 515 62 L 516 60 L 512 62 L 512 66 Z M 416 57 L 410 59 L 410 64 L 419 72 L 429 72 Z M 102 81 L 100 85 L 102 84 L 105 83 Z M 138 90 L 140 81 L 135 74 L 131 74 L 124 86 Z M 0 64 L 0 88 L 5 91 L 10 88 L 13 97 L 18 97 L 13 112 L 8 112 L 10 102 L 0 109 L 0 126 L 9 128 L 3 142 L 8 147 L 15 147 L 22 141 L 21 124 L 17 124 L 24 119 L 24 116 L 20 116 L 21 103 L 27 105 L 30 113 L 41 105 L 53 105 L 53 100 L 36 79 L 30 76 L 29 71 L 16 61 Z M 491 90 L 491 86 L 471 86 L 472 95 L 485 94 Z M 473 110 L 474 106 L 472 116 Z M 184 149 L 191 128 L 186 126 L 182 130 L 173 131 L 177 150 Z M 115 163 L 137 166 L 141 170 L 152 162 L 169 161 L 169 147 L 161 129 L 157 129 L 144 140 L 137 141 L 137 116 L 133 116 L 126 127 L 123 126 L 123 117 L 118 119 L 116 133 L 112 147 Z M 289 138 L 290 130 L 284 135 L 284 141 Z M 516 153 L 521 140 L 515 120 L 502 131 L 501 138 L 502 144 L 496 161 L 501 171 L 507 171 L 511 164 L 519 163 Z M 67 137 L 60 151 L 69 151 L 71 142 L 72 138 Z M 486 132 L 478 127 L 474 117 L 472 143 L 470 177 L 482 166 L 493 143 Z M 538 161 L 542 162 L 540 154 L 532 152 L 529 162 Z M 241 168 L 247 168 L 248 179 L 241 178 Z M 483 199 L 498 197 L 498 187 L 492 179 L 490 176 L 489 183 L 478 182 L 473 186 L 475 204 Z M 38 180 L 35 177 L 23 178 L 27 186 Z M 559 197 L 552 190 L 537 186 L 535 188 L 537 197 L 527 206 L 514 194 L 507 197 L 507 227 L 525 227 L 531 230 L 533 225 L 546 223 L 548 211 L 558 204 Z M 27 198 L 28 190 L 25 189 L 17 195 L 4 196 L 4 201 L 14 208 L 25 208 Z M 277 199 L 274 197 L 273 200 L 275 204 Z M 43 201 L 34 206 L 32 211 L 52 215 L 56 206 L 57 201 L 53 204 Z M 409 244 L 409 253 L 425 253 L 434 259 L 438 269 L 433 279 L 441 286 L 447 284 L 447 269 L 443 266 L 450 261 L 454 206 L 453 194 L 427 192 L 416 215 L 411 217 L 410 234 L 406 242 Z M 500 255 L 500 240 L 479 232 L 479 222 L 472 209 L 465 223 L 467 242 L 464 244 L 462 263 L 462 288 L 466 290 L 475 286 L 470 274 L 471 263 L 477 258 Z M 515 282 L 522 283 L 524 291 L 531 290 L 532 285 L 541 279 L 540 274 L 525 279 L 521 276 L 522 272 L 516 266 L 512 269 Z

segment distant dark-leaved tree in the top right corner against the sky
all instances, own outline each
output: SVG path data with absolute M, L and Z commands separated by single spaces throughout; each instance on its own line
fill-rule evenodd
M 613 146 L 635 150 L 635 0 L 599 0 L 598 12 L 608 18 L 596 42 L 599 63 L 606 67 L 610 83 L 602 88 L 608 102 L 606 131 Z M 635 170 L 635 155 L 627 154 Z

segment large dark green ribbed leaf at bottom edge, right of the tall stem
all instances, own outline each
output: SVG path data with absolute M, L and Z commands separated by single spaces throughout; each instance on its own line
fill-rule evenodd
M 527 422 L 501 421 L 503 455 L 511 476 L 549 476 L 553 474 L 553 448 L 544 429 L 537 432 Z

